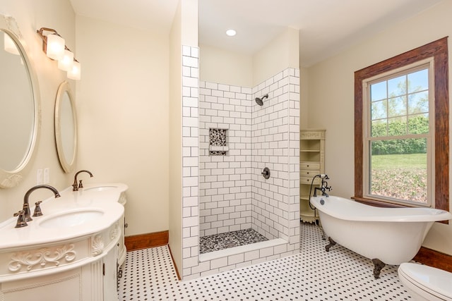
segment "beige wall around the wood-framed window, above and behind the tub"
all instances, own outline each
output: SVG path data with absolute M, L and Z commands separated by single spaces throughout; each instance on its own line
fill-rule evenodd
M 452 35 L 451 11 L 452 2 L 443 1 L 414 18 L 309 68 L 307 125 L 310 128 L 326 128 L 326 173 L 331 178 L 330 184 L 333 185 L 335 195 L 351 197 L 354 193 L 355 70 Z M 451 49 L 449 45 L 449 51 Z M 449 58 L 451 57 L 449 53 Z M 435 223 L 424 241 L 424 247 L 452 254 L 451 237 L 452 224 L 447 226 Z

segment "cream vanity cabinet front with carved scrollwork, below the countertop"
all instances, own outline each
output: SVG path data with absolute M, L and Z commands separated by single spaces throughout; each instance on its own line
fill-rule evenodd
M 1 254 L 8 274 L 2 275 L 0 300 L 117 300 L 123 217 L 107 231 L 77 242 Z

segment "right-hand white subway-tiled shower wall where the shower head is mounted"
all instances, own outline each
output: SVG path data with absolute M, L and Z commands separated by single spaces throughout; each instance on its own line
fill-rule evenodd
M 252 106 L 252 225 L 268 239 L 295 240 L 299 221 L 299 70 L 287 68 L 253 88 L 263 106 Z M 270 178 L 261 175 L 270 168 Z M 299 210 L 299 209 L 298 209 Z

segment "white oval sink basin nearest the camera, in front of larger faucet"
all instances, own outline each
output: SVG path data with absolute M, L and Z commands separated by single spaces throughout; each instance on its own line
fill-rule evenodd
M 85 209 L 77 211 L 63 212 L 39 221 L 39 225 L 43 228 L 64 228 L 79 226 L 93 219 L 99 218 L 104 211 L 96 209 Z

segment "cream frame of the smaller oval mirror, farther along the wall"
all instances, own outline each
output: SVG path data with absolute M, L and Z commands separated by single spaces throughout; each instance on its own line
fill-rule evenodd
M 72 119 L 73 119 L 73 127 L 74 127 L 74 135 L 73 135 L 73 156 L 70 161 L 66 160 L 66 156 L 64 155 L 64 147 L 63 141 L 61 139 L 61 107 L 64 99 L 64 94 L 68 94 L 69 102 L 71 104 L 72 109 Z M 58 87 L 57 99 L 55 100 L 55 142 L 57 144 L 57 152 L 59 163 L 61 167 L 66 173 L 70 173 L 73 171 L 73 167 L 76 163 L 77 159 L 77 113 L 76 113 L 76 104 L 73 99 L 73 94 L 71 91 L 71 86 L 69 82 L 61 82 Z

